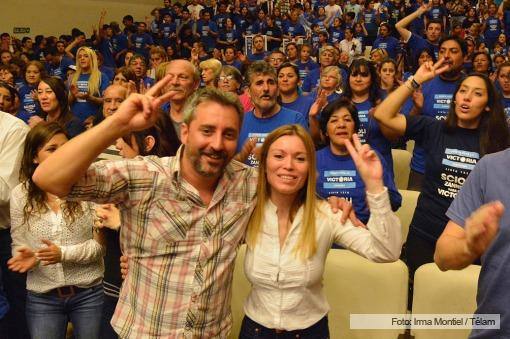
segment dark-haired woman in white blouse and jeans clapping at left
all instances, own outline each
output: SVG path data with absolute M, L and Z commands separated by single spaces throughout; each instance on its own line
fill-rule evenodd
M 68 321 L 76 338 L 99 337 L 104 250 L 93 231 L 93 206 L 60 200 L 32 181 L 38 164 L 65 142 L 57 123 L 34 127 L 25 141 L 21 184 L 11 192 L 13 258 L 8 266 L 28 272 L 26 316 L 32 339 L 64 339 Z

